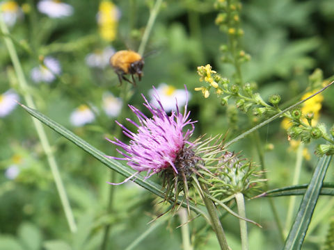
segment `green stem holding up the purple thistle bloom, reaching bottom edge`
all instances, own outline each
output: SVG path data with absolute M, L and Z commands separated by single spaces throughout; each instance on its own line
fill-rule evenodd
M 223 230 L 223 226 L 221 226 L 221 221 L 219 220 L 218 213 L 216 210 L 216 206 L 211 199 L 209 199 L 209 190 L 207 189 L 207 185 L 202 183 L 202 190 L 204 195 L 202 199 L 205 203 L 205 207 L 207 208 L 207 212 L 209 213 L 209 217 L 211 220 L 212 228 L 214 229 L 214 233 L 216 233 L 217 240 L 222 250 L 229 250 L 228 241 L 226 240 L 226 236 Z

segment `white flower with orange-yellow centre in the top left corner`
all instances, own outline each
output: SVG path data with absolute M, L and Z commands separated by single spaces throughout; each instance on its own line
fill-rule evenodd
M 17 19 L 23 17 L 23 13 L 19 5 L 15 1 L 3 1 L 0 3 L 0 12 L 3 22 L 8 26 L 13 26 Z

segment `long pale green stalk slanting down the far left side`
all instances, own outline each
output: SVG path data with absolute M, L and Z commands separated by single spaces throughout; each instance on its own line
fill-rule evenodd
M 9 35 L 8 28 L 6 24 L 3 22 L 3 18 L 0 12 L 0 28 L 2 33 Z M 15 50 L 14 44 L 12 40 L 8 36 L 3 37 L 5 40 L 6 47 L 8 49 L 8 53 L 10 55 L 10 59 L 12 60 L 15 73 L 17 75 L 17 80 L 19 82 L 19 88 L 21 88 L 24 100 L 26 104 L 31 108 L 35 108 L 35 103 L 33 102 L 33 98 L 31 94 L 29 94 L 28 83 L 26 82 L 26 78 L 24 77 L 24 72 L 22 70 L 21 63 L 19 62 L 19 58 L 17 56 L 17 52 Z M 33 124 L 35 126 L 36 132 L 38 134 L 38 138 L 40 139 L 40 143 L 42 144 L 42 148 L 45 151 L 45 155 L 47 156 L 47 161 L 51 168 L 52 176 L 54 177 L 54 183 L 56 184 L 56 188 L 61 199 L 61 204 L 63 206 L 63 210 L 65 212 L 65 217 L 67 219 L 68 226 L 70 226 L 70 231 L 75 233 L 77 231 L 77 224 L 74 221 L 74 216 L 72 213 L 72 209 L 70 207 L 70 202 L 68 201 L 67 194 L 63 185 L 63 181 L 61 179 L 61 174 L 58 170 L 58 165 L 56 163 L 56 159 L 54 158 L 54 154 L 52 152 L 49 141 L 47 140 L 47 135 L 45 133 L 44 128 L 42 127 L 42 123 L 37 119 L 33 119 Z

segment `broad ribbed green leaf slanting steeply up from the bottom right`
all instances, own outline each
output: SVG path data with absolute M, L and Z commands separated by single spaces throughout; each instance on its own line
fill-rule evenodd
M 317 163 L 317 167 L 315 167 L 315 172 L 313 172 L 308 189 L 301 201 L 301 206 L 299 207 L 294 224 L 285 241 L 284 250 L 301 249 L 313 211 L 315 210 L 315 205 L 317 205 L 322 181 L 324 181 L 331 158 L 331 156 L 324 156 L 320 158 Z

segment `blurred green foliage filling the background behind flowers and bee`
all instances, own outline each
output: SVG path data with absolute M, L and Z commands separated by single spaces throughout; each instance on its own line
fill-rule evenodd
M 113 155 L 113 146 L 104 138 L 113 138 L 116 134 L 114 120 L 117 117 L 104 113 L 102 96 L 105 92 L 120 96 L 118 78 L 109 66 L 88 66 L 86 56 L 108 46 L 116 51 L 136 51 L 154 1 L 113 1 L 119 16 L 113 41 L 104 40 L 99 33 L 99 1 L 66 1 L 74 11 L 62 18 L 51 18 L 40 12 L 38 1 L 17 3 L 22 12 L 10 26 L 10 33 L 38 110 L 97 149 Z M 308 86 L 308 76 L 316 68 L 322 69 L 324 78 L 333 75 L 333 0 L 248 0 L 241 3 L 241 26 L 245 34 L 242 44 L 251 56 L 250 62 L 242 66 L 244 81 L 256 82 L 265 101 L 271 94 L 280 94 L 283 103 L 295 97 L 297 101 Z M 216 15 L 214 1 L 162 3 L 145 48 L 148 56 L 145 57 L 144 76 L 136 88 L 129 90 L 132 94 L 129 103 L 145 110 L 141 106 L 141 93 L 148 96 L 152 85 L 166 83 L 177 89 L 186 85 L 191 93 L 191 118 L 198 120 L 195 137 L 225 134 L 230 128 L 228 139 L 232 139 L 249 128 L 246 115 L 233 108 L 227 110 L 214 94 L 204 99 L 200 92 L 193 90 L 202 84 L 196 72 L 200 65 L 209 63 L 225 77 L 231 77 L 234 72 L 230 65 L 221 63 L 219 47 L 227 37 L 214 24 Z M 31 70 L 47 56 L 59 61 L 61 73 L 51 83 L 35 83 Z M 3 39 L 0 65 L 0 93 L 13 89 L 22 94 Z M 326 90 L 321 110 L 320 120 L 328 126 L 333 124 L 333 94 L 333 88 Z M 21 101 L 24 103 L 22 97 Z M 95 120 L 84 126 L 74 126 L 70 122 L 71 113 L 82 104 L 95 107 Z M 125 110 L 118 119 L 133 117 L 127 108 Z M 231 117 L 236 118 L 232 125 Z M 289 150 L 286 131 L 280 122 L 277 120 L 260 129 L 263 147 L 274 146 L 265 154 L 270 188 L 291 185 L 296 160 L 296 152 Z M 125 249 L 151 226 L 148 222 L 161 213 L 161 206 L 154 205 L 155 197 L 132 183 L 120 185 L 114 187 L 113 209 L 107 213 L 111 186 L 106 182 L 111 181 L 110 170 L 49 128 L 45 130 L 78 222 L 78 232 L 70 233 L 67 226 L 31 117 L 22 108 L 16 108 L 0 118 L 0 249 L 100 249 L 106 224 L 111 225 L 107 249 Z M 309 181 L 317 162 L 312 153 L 315 144 L 307 147 L 312 156 L 304 160 L 300 183 Z M 239 141 L 230 150 L 241 151 L 258 163 L 251 138 Z M 6 170 L 13 165 L 18 167 L 19 174 L 8 178 Z M 121 176 L 117 178 L 122 180 Z M 157 181 L 154 177 L 152 180 Z M 329 169 L 326 181 L 333 181 L 333 168 Z M 288 198 L 275 199 L 283 221 L 287 202 Z M 321 197 L 315 210 L 319 221 L 308 233 L 303 249 L 323 246 L 328 218 L 334 215 L 333 210 L 328 210 L 324 216 L 323 209 L 328 208 L 330 202 L 333 202 L 330 198 Z M 248 218 L 263 226 L 257 228 L 249 224 L 250 249 L 280 249 L 283 243 L 266 199 L 247 201 L 246 210 Z M 136 249 L 182 249 L 180 228 L 176 228 L 181 224 L 178 216 L 161 219 L 159 223 Z M 189 224 L 196 249 L 218 249 L 212 231 L 199 231 L 202 224 L 205 224 L 202 218 Z M 222 224 L 230 247 L 241 249 L 238 219 L 228 216 L 222 219 Z

